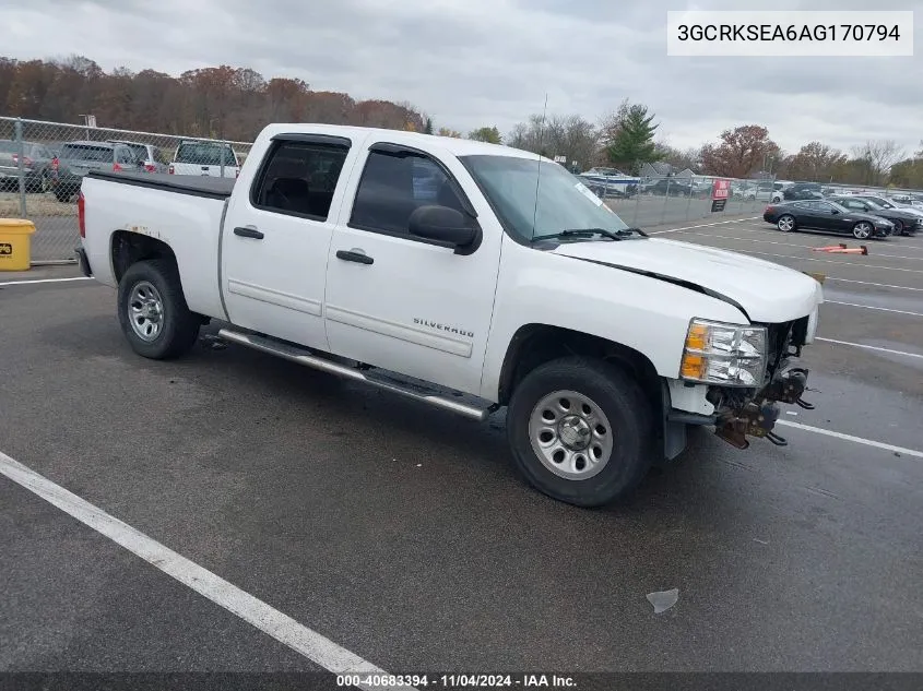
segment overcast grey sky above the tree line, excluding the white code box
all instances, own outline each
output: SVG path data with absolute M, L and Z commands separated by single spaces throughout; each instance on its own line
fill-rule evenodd
M 914 10 L 912 58 L 676 58 L 667 10 Z M 784 150 L 923 139 L 923 0 L 0 0 L 0 55 L 174 75 L 215 64 L 410 100 L 438 126 L 592 121 L 628 97 L 674 146 L 757 123 Z M 100 123 L 105 124 L 105 123 Z

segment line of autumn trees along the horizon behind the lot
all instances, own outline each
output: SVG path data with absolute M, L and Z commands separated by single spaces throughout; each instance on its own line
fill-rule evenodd
M 677 148 L 659 136 L 655 114 L 625 99 L 596 122 L 579 114 L 532 115 L 501 134 L 485 126 L 466 134 L 436 127 L 410 103 L 356 100 L 313 91 L 298 79 L 264 79 L 247 68 L 220 65 L 170 76 L 154 70 L 105 72 L 81 56 L 63 60 L 0 58 L 0 114 L 57 122 L 96 116 L 100 127 L 188 136 L 252 141 L 269 122 L 329 122 L 504 143 L 548 157 L 565 156 L 580 170 L 615 167 L 638 175 L 644 164 L 734 178 L 766 177 L 923 188 L 921 151 L 908 155 L 894 141 L 867 141 L 843 152 L 819 141 L 785 153 L 767 128 L 742 124 L 715 141 Z

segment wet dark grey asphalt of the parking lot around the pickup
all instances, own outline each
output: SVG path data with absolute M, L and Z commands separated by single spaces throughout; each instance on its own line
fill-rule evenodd
M 0 452 L 391 671 L 923 671 L 923 238 L 819 263 L 828 236 L 714 223 L 659 237 L 826 273 L 817 409 L 783 414 L 786 448 L 698 430 L 622 505 L 523 485 L 502 412 L 205 341 L 139 358 L 73 267 L 0 276 Z M 3 476 L 0 497 L 0 670 L 317 669 Z

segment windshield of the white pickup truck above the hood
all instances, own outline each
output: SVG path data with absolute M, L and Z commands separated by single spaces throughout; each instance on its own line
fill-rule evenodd
M 520 240 L 563 230 L 628 226 L 580 179 L 553 163 L 513 156 L 460 156 L 504 226 Z

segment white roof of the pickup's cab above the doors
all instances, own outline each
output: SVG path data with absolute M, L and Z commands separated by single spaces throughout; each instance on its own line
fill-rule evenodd
M 283 122 L 268 124 L 263 132 L 268 136 L 276 134 L 332 134 L 345 136 L 351 140 L 365 140 L 371 136 L 375 142 L 390 142 L 393 144 L 405 144 L 424 151 L 430 148 L 442 148 L 455 156 L 513 156 L 517 158 L 535 158 L 536 154 L 502 146 L 500 144 L 488 144 L 469 139 L 457 139 L 453 136 L 439 136 L 437 134 L 423 134 L 421 132 L 405 132 L 403 130 L 388 130 L 383 128 L 355 127 L 348 124 L 324 124 L 305 122 Z M 371 141 L 369 141 L 371 143 Z M 545 159 L 551 163 L 549 159 Z

